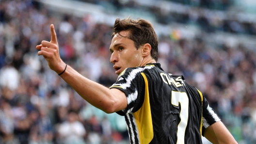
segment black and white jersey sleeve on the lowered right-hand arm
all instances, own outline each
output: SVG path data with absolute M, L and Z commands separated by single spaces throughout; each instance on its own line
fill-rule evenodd
M 221 118 L 216 114 L 216 112 L 209 106 L 208 101 L 203 96 L 203 128 L 202 128 L 202 135 L 204 136 L 204 131 L 210 125 L 214 124 L 221 120 Z

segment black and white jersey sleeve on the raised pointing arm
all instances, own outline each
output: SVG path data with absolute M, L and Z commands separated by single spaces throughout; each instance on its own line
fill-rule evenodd
M 145 82 L 137 68 L 127 68 L 118 76 L 111 88 L 123 91 L 127 98 L 127 108 L 116 112 L 118 115 L 134 113 L 141 108 L 144 101 Z

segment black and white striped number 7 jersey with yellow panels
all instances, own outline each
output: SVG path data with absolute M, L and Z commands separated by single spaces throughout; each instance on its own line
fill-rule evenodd
M 131 144 L 202 144 L 204 129 L 220 121 L 198 89 L 159 63 L 127 68 L 110 88 L 127 97 L 117 114 L 125 115 Z

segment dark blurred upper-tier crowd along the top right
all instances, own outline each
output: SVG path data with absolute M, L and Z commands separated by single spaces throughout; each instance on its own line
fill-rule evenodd
M 155 17 L 159 23 L 171 24 L 178 22 L 193 25 L 208 33 L 222 31 L 236 34 L 256 35 L 256 22 L 239 19 L 239 17 L 244 18 L 245 16 L 239 15 L 242 10 L 235 7 L 235 0 L 167 0 L 176 2 L 176 7 L 172 5 L 173 3 L 164 3 L 165 5 L 160 5 L 158 0 L 148 0 L 148 2 L 152 2 L 150 6 L 139 4 L 136 0 L 80 1 L 95 3 L 102 7 L 111 5 L 111 10 L 115 12 L 123 11 L 124 8 L 129 8 L 130 12 L 134 11 L 137 13 L 138 11 L 141 13 L 146 11 L 148 14 Z M 169 7 L 172 7 L 175 10 L 172 11 Z M 206 9 L 213 11 L 208 11 Z M 229 9 L 232 9 L 233 12 L 225 13 L 225 10 Z M 254 19 L 256 19 L 256 17 L 254 17 Z

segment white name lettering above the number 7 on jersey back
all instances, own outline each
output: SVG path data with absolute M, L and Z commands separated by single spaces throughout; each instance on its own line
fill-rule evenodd
M 172 83 L 173 83 L 173 85 L 174 86 L 176 86 L 176 87 L 179 87 L 179 86 L 186 86 L 185 84 L 184 84 L 184 82 L 182 81 L 182 79 L 181 79 L 181 76 L 179 76 L 178 78 L 176 78 L 175 80 L 174 80 L 174 78 L 171 78 L 168 74 L 166 74 L 166 73 L 160 73 L 160 75 L 161 75 L 161 78 L 162 78 L 162 80 L 163 80 L 163 82 L 165 83 L 165 84 L 168 84 L 168 85 L 172 85 Z M 180 82 L 178 82 L 178 81 L 180 81 Z

